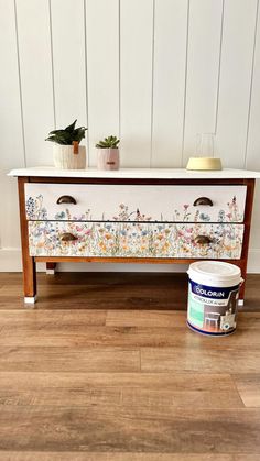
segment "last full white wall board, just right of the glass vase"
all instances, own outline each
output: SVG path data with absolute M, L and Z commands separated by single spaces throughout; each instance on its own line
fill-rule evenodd
M 226 0 L 217 151 L 224 166 L 245 164 L 257 0 Z

